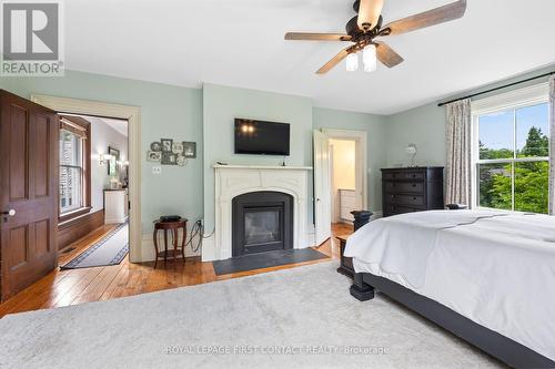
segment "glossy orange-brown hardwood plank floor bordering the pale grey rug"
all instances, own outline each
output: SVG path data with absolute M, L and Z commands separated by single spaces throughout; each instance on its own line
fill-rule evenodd
M 59 264 L 63 265 L 68 263 L 111 229 L 113 229 L 113 226 L 100 227 L 72 244 L 71 247 L 74 247 L 74 249 L 60 254 Z M 339 242 L 335 236 L 351 233 L 351 225 L 333 224 L 332 234 L 334 237 L 314 248 L 332 258 L 337 258 Z M 214 280 L 238 278 L 326 262 L 329 259 L 216 276 L 212 263 L 202 263 L 199 257 L 188 258 L 184 266 L 182 263 L 178 264 L 176 270 L 173 269 L 172 263 L 168 263 L 168 268 L 164 268 L 163 263 L 159 263 L 158 269 L 154 269 L 153 263 L 131 264 L 128 257 L 125 257 L 120 265 L 54 270 L 6 303 L 0 304 L 0 318 L 7 314 L 49 309 L 90 301 L 105 301 L 118 297 L 193 286 Z

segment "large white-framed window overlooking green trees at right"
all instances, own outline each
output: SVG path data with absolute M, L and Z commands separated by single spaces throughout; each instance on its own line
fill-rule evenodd
M 503 98 L 503 103 L 496 99 L 497 104 L 486 107 L 482 102 L 482 111 L 474 111 L 473 105 L 475 203 L 478 207 L 547 214 L 547 89 L 534 86 Z

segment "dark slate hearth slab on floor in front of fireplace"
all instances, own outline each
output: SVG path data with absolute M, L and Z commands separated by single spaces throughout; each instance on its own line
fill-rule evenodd
M 280 265 L 313 262 L 329 258 L 327 255 L 312 248 L 282 249 L 278 252 L 259 253 L 213 262 L 216 276 L 270 268 Z

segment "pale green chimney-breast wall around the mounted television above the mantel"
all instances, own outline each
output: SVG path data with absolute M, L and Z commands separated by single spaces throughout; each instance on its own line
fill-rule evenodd
M 203 86 L 204 222 L 214 227 L 215 162 L 280 165 L 282 156 L 234 154 L 234 119 L 245 117 L 291 124 L 290 166 L 311 166 L 312 100 L 273 92 L 205 83 Z M 312 214 L 312 212 L 311 212 Z

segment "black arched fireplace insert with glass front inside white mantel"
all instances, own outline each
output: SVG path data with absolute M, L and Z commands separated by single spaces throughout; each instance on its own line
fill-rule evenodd
M 232 202 L 232 256 L 293 248 L 293 196 L 260 191 Z

